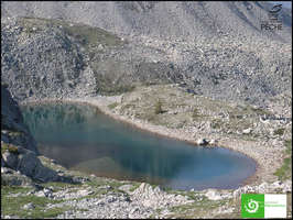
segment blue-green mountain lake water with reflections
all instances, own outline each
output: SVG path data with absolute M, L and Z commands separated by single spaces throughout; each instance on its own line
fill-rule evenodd
M 94 107 L 47 103 L 22 110 L 40 152 L 67 168 L 178 189 L 236 188 L 256 170 L 240 153 L 138 131 Z

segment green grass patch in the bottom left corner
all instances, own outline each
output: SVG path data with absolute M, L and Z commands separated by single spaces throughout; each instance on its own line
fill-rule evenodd
M 48 204 L 59 204 L 63 200 L 52 200 L 46 197 L 37 197 L 34 195 L 26 196 L 25 193 L 30 191 L 30 188 L 1 186 L 1 215 L 3 216 L 17 216 L 19 218 L 54 218 L 66 210 L 69 207 L 46 209 Z M 11 197 L 11 194 L 21 195 Z M 32 202 L 35 208 L 31 210 L 23 209 L 23 206 Z

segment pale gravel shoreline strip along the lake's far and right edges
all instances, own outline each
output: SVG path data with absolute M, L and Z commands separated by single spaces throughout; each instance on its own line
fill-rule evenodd
M 135 120 L 135 119 L 129 119 L 124 116 L 119 116 L 113 112 L 110 111 L 110 109 L 108 108 L 108 105 L 115 102 L 115 101 L 119 101 L 121 99 L 121 96 L 117 96 L 117 97 L 89 97 L 89 98 L 84 98 L 84 99 L 78 99 L 78 98 L 67 98 L 67 99 L 43 99 L 43 100 L 26 100 L 24 102 L 21 102 L 20 105 L 42 105 L 42 103 L 46 103 L 46 102 L 70 102 L 70 103 L 82 103 L 82 105 L 89 105 L 93 106 L 95 108 L 98 108 L 102 113 L 107 114 L 108 117 L 121 121 L 123 123 L 127 123 L 131 127 L 134 127 L 135 129 L 140 129 L 142 131 L 146 131 L 150 132 L 152 134 L 155 135 L 161 135 L 164 138 L 169 138 L 169 139 L 175 139 L 178 141 L 184 141 L 187 142 L 189 144 L 193 144 L 194 146 L 198 147 L 198 144 L 196 143 L 196 140 L 192 140 L 191 138 L 188 139 L 187 136 L 184 135 L 178 135 L 180 133 L 172 133 L 170 131 L 166 131 L 169 129 L 164 129 L 162 125 L 153 125 L 150 123 L 143 123 L 141 122 L 141 120 Z M 207 138 L 207 136 L 206 136 Z M 224 148 L 229 148 L 236 152 L 240 152 L 242 154 L 245 154 L 246 156 L 248 156 L 249 158 L 253 160 L 256 162 L 256 172 L 252 176 L 248 177 L 247 179 L 245 179 L 241 186 L 246 186 L 246 185 L 253 185 L 253 184 L 261 184 L 262 182 L 267 182 L 267 178 L 262 178 L 263 177 L 263 166 L 260 165 L 261 160 L 259 157 L 257 157 L 253 153 L 251 153 L 250 151 L 243 151 L 243 143 L 239 144 L 236 143 L 237 140 L 231 140 L 231 139 L 226 139 L 225 138 L 220 139 L 219 136 L 217 138 L 217 140 L 219 140 L 217 146 L 218 147 L 224 147 Z M 242 141 L 242 140 L 241 140 Z M 251 143 L 250 143 L 251 144 Z M 199 147 L 205 147 L 205 146 L 199 146 Z

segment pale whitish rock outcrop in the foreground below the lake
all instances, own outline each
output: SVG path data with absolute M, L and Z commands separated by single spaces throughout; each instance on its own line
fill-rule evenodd
M 85 189 L 72 190 L 68 189 L 52 193 L 52 190 L 45 188 L 42 191 L 37 191 L 36 196 L 43 196 L 52 199 L 64 199 L 65 201 L 52 207 L 74 206 L 79 209 L 88 211 L 66 211 L 58 218 L 150 218 L 151 215 L 155 215 L 158 209 L 161 209 L 161 213 L 167 215 L 172 207 L 188 205 L 194 200 L 187 196 L 169 194 L 161 190 L 159 187 L 152 187 L 149 184 L 142 183 L 134 191 L 123 191 L 123 186 L 119 187 L 119 190 L 113 190 L 110 186 L 100 186 L 96 188 L 87 187 Z M 95 196 L 96 190 L 105 190 L 106 194 Z M 86 198 L 89 197 L 89 198 Z M 77 199 L 78 198 L 78 199 Z

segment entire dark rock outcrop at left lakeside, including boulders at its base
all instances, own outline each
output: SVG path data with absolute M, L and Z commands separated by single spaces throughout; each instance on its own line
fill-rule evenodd
M 55 170 L 42 165 L 37 154 L 35 141 L 23 124 L 18 103 L 12 99 L 6 86 L 1 85 L 1 179 L 3 177 L 3 184 L 28 183 L 25 177 L 13 174 L 15 172 L 34 180 L 59 180 Z M 11 172 L 6 174 L 6 167 Z

